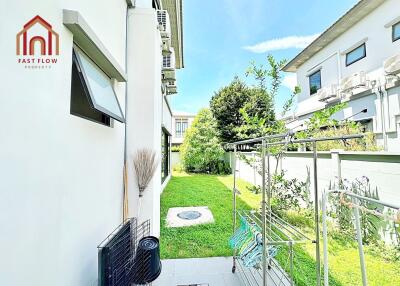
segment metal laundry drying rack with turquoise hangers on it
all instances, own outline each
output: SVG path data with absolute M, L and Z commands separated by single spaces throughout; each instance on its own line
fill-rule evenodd
M 237 270 L 243 278 L 246 285 L 294 285 L 294 245 L 300 243 L 314 243 L 316 257 L 316 285 L 321 285 L 321 256 L 320 256 L 320 227 L 319 227 L 319 195 L 318 195 L 318 173 L 317 173 L 317 142 L 330 140 L 348 140 L 362 138 L 363 135 L 345 135 L 340 137 L 324 137 L 324 138 L 307 138 L 294 139 L 293 133 L 271 135 L 254 139 L 242 140 L 233 142 L 234 160 L 233 160 L 233 233 L 237 231 L 237 217 L 241 220 L 246 220 L 252 225 L 256 225 L 262 234 L 262 260 L 258 267 L 246 268 L 237 251 L 233 251 L 233 266 L 232 273 Z M 314 186 L 314 220 L 315 220 L 315 238 L 310 239 L 293 225 L 284 221 L 271 210 L 271 166 L 270 156 L 272 146 L 287 146 L 288 144 L 312 144 L 313 150 L 313 186 Z M 261 145 L 260 145 L 261 144 Z M 237 209 L 236 196 L 239 190 L 236 188 L 236 158 L 238 147 L 243 146 L 260 146 L 261 156 L 261 212 L 260 211 L 243 211 Z M 249 149 L 249 148 L 247 148 Z M 287 248 L 288 267 L 284 270 L 276 259 L 268 254 L 268 249 L 271 246 L 277 248 Z M 278 250 L 279 251 L 279 250 Z M 286 255 L 286 254 L 285 254 Z

